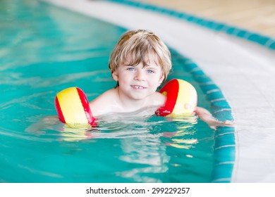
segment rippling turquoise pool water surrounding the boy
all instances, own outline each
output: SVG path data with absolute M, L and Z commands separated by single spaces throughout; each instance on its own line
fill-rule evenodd
M 0 182 L 211 182 L 214 130 L 196 117 L 110 115 L 92 131 L 42 121 L 54 96 L 115 86 L 109 53 L 126 30 L 37 1 L 0 1 Z M 171 78 L 191 82 L 172 51 Z

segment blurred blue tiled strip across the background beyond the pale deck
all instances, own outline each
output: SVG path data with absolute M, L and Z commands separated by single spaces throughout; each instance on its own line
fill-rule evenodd
M 207 28 L 214 30 L 216 32 L 224 32 L 226 34 L 230 34 L 231 36 L 239 37 L 239 38 L 248 40 L 250 42 L 255 42 L 255 43 L 260 44 L 264 47 L 267 47 L 268 49 L 275 50 L 275 39 L 274 38 L 267 37 L 265 35 L 251 32 L 248 30 L 244 30 L 239 27 L 226 25 L 224 23 L 219 23 L 214 20 L 208 20 L 206 18 L 200 18 L 198 16 L 184 13 L 181 11 L 174 11 L 173 9 L 164 8 L 161 6 L 154 6 L 152 4 L 145 4 L 145 3 L 133 1 L 133 0 L 106 0 L 106 1 L 113 1 L 116 3 L 120 3 L 120 4 L 125 4 L 128 6 L 134 6 L 137 8 L 143 8 L 143 9 L 146 9 L 149 11 L 155 11 L 158 13 L 170 15 L 170 16 L 182 19 L 182 20 L 186 20 L 190 23 L 195 23 L 202 27 L 207 27 Z

